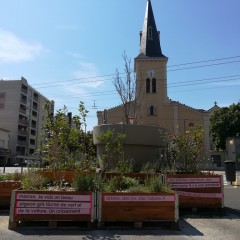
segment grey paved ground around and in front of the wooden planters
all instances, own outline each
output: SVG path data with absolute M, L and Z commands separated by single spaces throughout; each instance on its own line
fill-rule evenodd
M 239 240 L 240 174 L 235 186 L 224 183 L 225 214 L 188 215 L 180 218 L 180 230 L 146 228 L 144 230 L 19 229 L 8 230 L 8 213 L 0 210 L 0 240 Z

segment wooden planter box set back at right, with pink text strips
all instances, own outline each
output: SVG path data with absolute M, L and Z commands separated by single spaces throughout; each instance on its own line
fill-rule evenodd
M 179 195 L 180 208 L 223 208 L 221 175 L 166 175 L 166 181 Z

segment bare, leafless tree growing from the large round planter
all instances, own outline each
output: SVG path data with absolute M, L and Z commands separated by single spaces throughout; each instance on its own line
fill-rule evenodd
M 127 57 L 125 52 L 123 54 L 123 60 L 125 76 L 122 78 L 117 69 L 113 84 L 121 98 L 126 123 L 130 123 L 130 117 L 133 117 L 135 119 L 134 123 L 137 123 L 141 111 L 141 89 L 139 93 L 136 94 L 136 76 L 131 67 L 131 59 Z

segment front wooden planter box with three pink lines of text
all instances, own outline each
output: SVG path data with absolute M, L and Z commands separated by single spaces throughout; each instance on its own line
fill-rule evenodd
M 93 193 L 67 191 L 23 191 L 12 192 L 9 229 L 18 222 L 48 221 L 49 226 L 59 221 L 84 221 L 94 218 Z

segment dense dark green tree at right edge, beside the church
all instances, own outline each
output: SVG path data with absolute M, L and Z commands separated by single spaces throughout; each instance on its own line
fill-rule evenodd
M 226 149 L 227 138 L 240 134 L 240 102 L 216 110 L 210 117 L 210 132 L 216 149 Z

